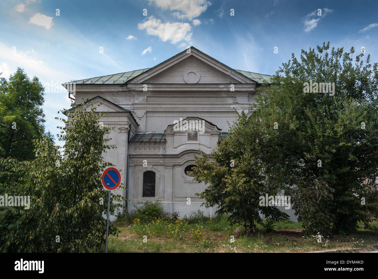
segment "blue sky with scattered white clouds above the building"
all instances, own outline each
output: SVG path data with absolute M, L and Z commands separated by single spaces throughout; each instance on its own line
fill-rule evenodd
M 377 14 L 373 0 L 1 1 L 0 72 L 8 78 L 21 67 L 57 85 L 150 68 L 193 45 L 231 68 L 274 74 L 291 53 L 324 41 L 365 47 L 378 62 Z M 56 134 L 54 117 L 70 100 L 50 87 L 43 108 Z

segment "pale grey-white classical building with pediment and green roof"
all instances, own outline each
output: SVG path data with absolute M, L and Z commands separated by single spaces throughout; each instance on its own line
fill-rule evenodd
M 84 98 L 108 112 L 101 122 L 115 127 L 108 137 L 117 148 L 104 156 L 121 170 L 127 190 L 116 194 L 130 200 L 128 210 L 139 201 L 161 200 L 164 211 L 183 216 L 198 209 L 214 214 L 195 195 L 206 185 L 191 177 L 194 154 L 210 153 L 227 136 L 227 121 L 236 121 L 235 109 L 249 112 L 264 80 L 270 76 L 232 69 L 191 47 L 152 68 L 63 85 L 74 85 L 73 105 Z M 193 129 L 177 127 L 180 119 L 194 123 Z

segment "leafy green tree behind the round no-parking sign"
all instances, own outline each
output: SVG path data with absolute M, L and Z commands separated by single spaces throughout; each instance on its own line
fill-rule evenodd
M 30 196 L 30 208 L 18 209 L 21 214 L 16 225 L 0 226 L 4 230 L 0 248 L 12 252 L 85 252 L 101 247 L 106 233 L 102 214 L 107 214 L 108 199 L 101 173 L 112 166 L 101 154 L 115 146 L 106 144 L 110 139 L 104 135 L 110 128 L 98 124 L 103 114 L 95 111 L 93 105 L 89 108 L 84 104 L 67 112 L 69 120 L 60 118 L 65 124 L 59 135 L 65 141 L 64 157 L 59 146 L 43 136 L 34 140 L 35 160 L 16 165 L 3 159 L 21 174 L 19 181 L 6 186 L 6 192 Z M 110 212 L 121 207 L 113 201 L 121 202 L 122 197 L 111 195 Z M 115 225 L 109 225 L 109 233 L 118 233 Z

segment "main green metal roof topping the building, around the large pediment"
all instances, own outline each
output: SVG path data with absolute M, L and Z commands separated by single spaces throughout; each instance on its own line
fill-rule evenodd
M 191 47 L 191 48 L 198 50 L 195 47 Z M 168 58 L 167 60 L 172 59 L 175 56 L 178 56 L 179 54 L 183 53 L 184 51 L 186 51 L 186 50 L 181 51 L 180 53 Z M 198 51 L 200 51 L 200 50 L 198 50 Z M 203 53 L 202 51 L 200 51 L 200 52 Z M 228 67 L 226 64 L 223 64 L 222 62 L 220 62 L 217 59 L 209 56 L 208 54 L 206 54 L 206 53 L 203 53 L 203 54 L 214 59 L 215 61 L 219 62 L 220 64 Z M 160 64 L 163 64 L 167 60 L 164 60 L 163 62 L 153 66 L 152 68 L 155 68 Z M 92 77 L 90 79 L 80 79 L 80 80 L 77 80 L 77 81 L 74 80 L 72 82 L 74 82 L 75 84 L 124 84 L 124 83 L 130 81 L 131 79 L 139 76 L 139 74 L 142 74 L 142 73 L 144 73 L 144 72 L 146 72 L 146 71 L 148 71 L 152 68 L 146 68 L 146 69 L 129 71 L 129 72 L 118 73 L 118 74 L 110 74 L 108 76 Z M 228 67 L 228 68 L 230 68 L 230 67 Z M 272 76 L 269 76 L 269 75 L 266 75 L 266 74 L 258 74 L 258 73 L 253 73 L 253 72 L 249 72 L 249 71 L 235 70 L 235 69 L 232 69 L 232 68 L 230 68 L 230 69 L 237 71 L 238 73 L 242 74 L 243 76 L 248 77 L 252 81 L 256 81 L 257 83 L 260 83 L 260 84 L 264 83 L 263 82 L 264 79 L 270 83 L 270 79 L 272 77 Z M 68 84 L 68 83 L 69 82 L 65 82 L 64 84 Z

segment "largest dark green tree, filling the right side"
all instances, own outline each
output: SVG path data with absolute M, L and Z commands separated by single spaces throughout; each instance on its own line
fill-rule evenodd
M 328 42 L 316 49 L 302 50 L 299 60 L 292 54 L 272 85 L 260 88 L 251 116 L 239 120 L 230 133 L 246 144 L 220 145 L 212 154 L 215 163 L 197 161 L 204 171 L 197 177 L 207 175 L 206 181 L 215 183 L 202 194 L 208 204 L 235 195 L 224 191 L 226 186 L 215 189 L 225 183 L 228 172 L 212 172 L 209 166 L 229 164 L 216 156 L 230 154 L 237 162 L 250 153 L 249 164 L 259 159 L 264 177 L 259 187 L 284 189 L 307 233 L 352 233 L 359 220 L 376 217 L 378 66 L 370 64 L 370 55 L 365 62 L 363 54 L 353 57 L 353 48 L 330 50 Z M 311 82 L 334 86 L 307 90 Z M 242 132 L 233 135 L 237 129 Z M 242 171 L 246 183 L 253 181 L 249 172 Z

